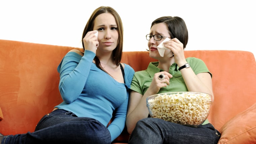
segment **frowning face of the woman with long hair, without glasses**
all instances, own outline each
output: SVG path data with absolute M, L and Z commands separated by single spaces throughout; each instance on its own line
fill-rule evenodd
M 98 30 L 100 49 L 105 52 L 113 51 L 118 44 L 118 31 L 115 17 L 110 13 L 102 13 L 94 20 L 93 30 Z

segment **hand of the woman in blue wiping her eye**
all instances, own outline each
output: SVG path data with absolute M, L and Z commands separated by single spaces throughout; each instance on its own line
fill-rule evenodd
M 89 31 L 83 38 L 85 50 L 90 50 L 96 53 L 99 46 L 98 38 L 95 36 L 96 31 Z

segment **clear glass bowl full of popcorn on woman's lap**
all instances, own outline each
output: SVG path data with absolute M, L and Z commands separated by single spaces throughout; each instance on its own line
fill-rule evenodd
M 208 117 L 214 98 L 197 92 L 171 92 L 149 96 L 147 107 L 153 118 L 199 127 Z

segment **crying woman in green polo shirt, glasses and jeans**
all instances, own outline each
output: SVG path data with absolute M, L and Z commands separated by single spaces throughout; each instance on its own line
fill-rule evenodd
M 180 17 L 163 16 L 152 22 L 146 35 L 151 62 L 147 70 L 135 72 L 126 118 L 131 134 L 130 144 L 217 144 L 220 133 L 206 120 L 198 128 L 148 118 L 147 97 L 166 92 L 202 92 L 213 96 L 212 74 L 204 62 L 197 58 L 185 58 L 188 30 Z M 163 56 L 157 46 L 165 39 Z

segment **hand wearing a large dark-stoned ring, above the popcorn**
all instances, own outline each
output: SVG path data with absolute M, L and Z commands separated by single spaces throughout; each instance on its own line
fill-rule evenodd
M 164 79 L 160 80 L 159 75 L 164 74 Z M 172 75 L 166 71 L 155 73 L 152 82 L 147 91 L 150 91 L 151 95 L 155 95 L 159 92 L 160 88 L 170 85 L 170 78 Z

